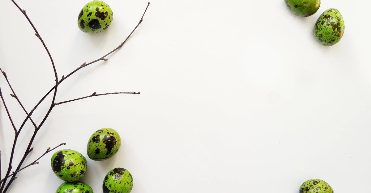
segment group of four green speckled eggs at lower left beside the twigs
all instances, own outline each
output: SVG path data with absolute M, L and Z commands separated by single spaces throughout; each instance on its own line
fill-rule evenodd
M 91 135 L 86 150 L 89 158 L 100 161 L 114 156 L 120 146 L 119 134 L 114 129 L 102 128 Z M 88 184 L 78 181 L 88 168 L 86 159 L 81 153 L 72 149 L 59 150 L 53 154 L 50 163 L 55 175 L 65 181 L 58 187 L 56 193 L 93 193 Z M 112 169 L 103 179 L 104 193 L 130 193 L 132 187 L 131 173 L 122 167 Z

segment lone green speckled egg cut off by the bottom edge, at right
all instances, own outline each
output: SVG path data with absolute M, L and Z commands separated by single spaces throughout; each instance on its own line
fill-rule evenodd
M 334 190 L 324 180 L 311 179 L 300 186 L 299 193 L 334 193 Z

